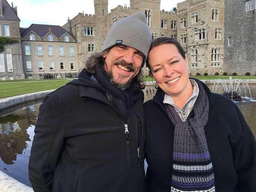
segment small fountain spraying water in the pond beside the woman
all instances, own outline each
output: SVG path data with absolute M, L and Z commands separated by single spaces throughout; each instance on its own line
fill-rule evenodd
M 224 79 L 217 79 L 217 82 L 214 83 L 211 91 L 216 92 L 218 85 L 222 85 L 224 88 L 223 95 L 230 98 L 232 101 L 242 101 L 242 96 L 248 98 L 247 96 L 247 90 L 249 91 L 249 98 L 252 100 L 252 95 L 250 92 L 250 87 L 248 83 L 243 79 L 232 79 L 230 76 L 229 81 L 226 81 Z M 229 82 L 229 86 L 227 85 Z M 240 85 L 243 85 L 244 91 L 241 90 Z

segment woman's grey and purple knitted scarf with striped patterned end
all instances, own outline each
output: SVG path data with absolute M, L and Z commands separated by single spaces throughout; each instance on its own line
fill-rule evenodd
M 194 117 L 182 122 L 174 107 L 165 104 L 173 123 L 173 175 L 171 192 L 215 192 L 214 173 L 204 134 L 209 101 L 203 85 L 193 106 Z

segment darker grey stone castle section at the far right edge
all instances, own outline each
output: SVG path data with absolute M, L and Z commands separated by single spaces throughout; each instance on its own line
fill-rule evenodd
M 256 75 L 255 12 L 250 1 L 225 0 L 224 71 L 228 74 Z

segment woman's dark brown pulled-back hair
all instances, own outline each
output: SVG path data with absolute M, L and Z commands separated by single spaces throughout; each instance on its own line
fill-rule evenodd
M 154 41 L 151 44 L 151 47 L 148 51 L 148 53 L 150 52 L 150 50 L 152 50 L 154 47 L 160 46 L 162 44 L 174 44 L 177 49 L 178 52 L 180 53 L 180 55 L 183 57 L 183 59 L 186 59 L 186 52 L 183 50 L 182 46 L 180 45 L 180 43 L 176 40 L 173 39 L 171 37 L 159 37 L 157 39 L 154 39 Z M 148 63 L 148 59 L 146 61 L 146 66 L 150 69 L 149 67 L 149 63 Z

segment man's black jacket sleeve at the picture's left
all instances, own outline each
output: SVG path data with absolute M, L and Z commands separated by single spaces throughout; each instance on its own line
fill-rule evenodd
M 61 110 L 52 94 L 40 105 L 35 136 L 28 165 L 29 179 L 35 192 L 51 192 L 64 134 Z

